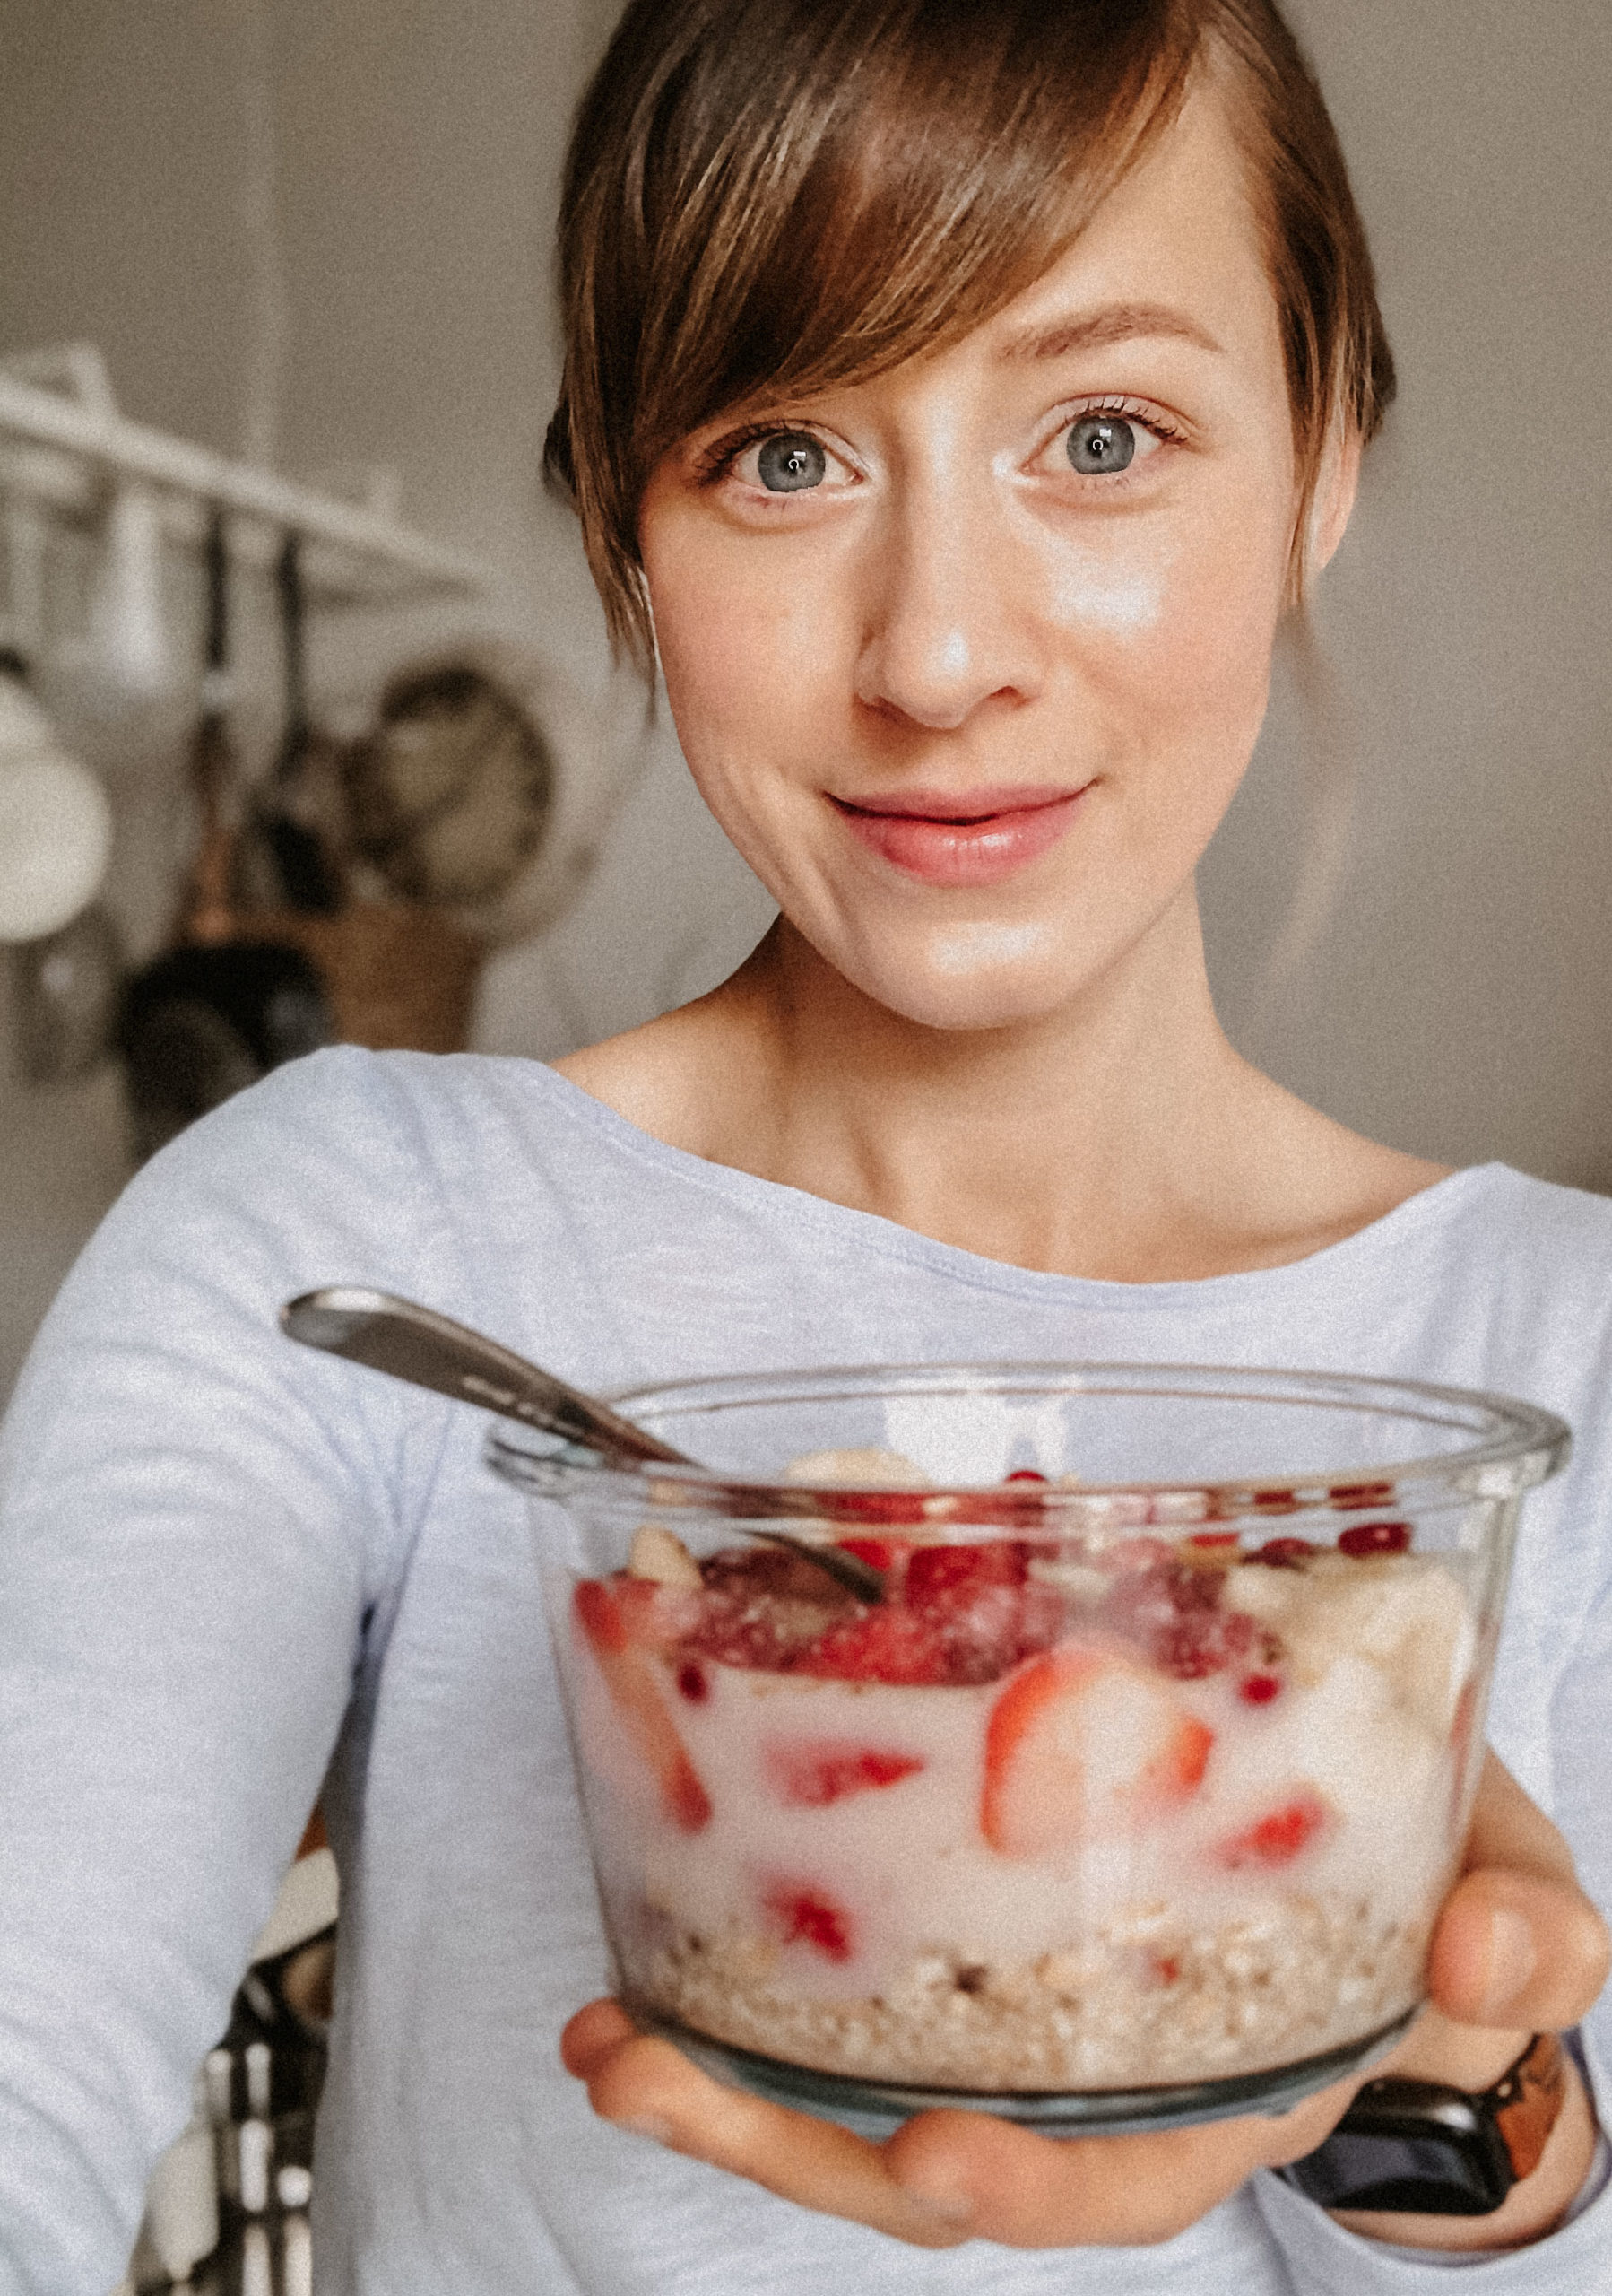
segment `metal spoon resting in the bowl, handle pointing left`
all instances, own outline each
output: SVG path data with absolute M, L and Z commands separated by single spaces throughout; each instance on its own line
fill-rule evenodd
M 354 1364 L 409 1380 L 411 1387 L 429 1387 L 457 1403 L 480 1403 L 503 1419 L 521 1419 L 547 1435 L 560 1435 L 595 1451 L 611 1467 L 641 1467 L 645 1460 L 698 1467 L 687 1451 L 673 1451 L 659 1435 L 648 1435 L 631 1419 L 556 1380 L 551 1371 L 540 1371 L 524 1355 L 501 1348 L 496 1339 L 393 1293 L 356 1283 L 303 1293 L 280 1309 L 280 1329 L 301 1339 L 305 1348 L 344 1355 Z M 753 1529 L 751 1536 L 815 1564 L 859 1603 L 884 1600 L 884 1573 L 859 1554 L 815 1548 L 788 1531 Z

